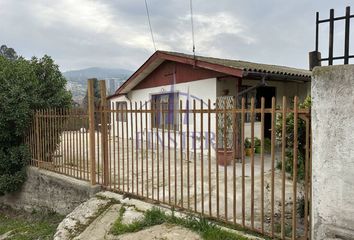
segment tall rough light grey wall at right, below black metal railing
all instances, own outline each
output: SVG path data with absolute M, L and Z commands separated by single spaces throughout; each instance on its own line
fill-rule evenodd
M 317 67 L 312 104 L 312 238 L 354 239 L 354 65 Z

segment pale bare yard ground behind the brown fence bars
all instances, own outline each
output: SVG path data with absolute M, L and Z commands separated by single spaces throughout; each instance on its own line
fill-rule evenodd
M 67 132 L 58 147 L 56 166 L 83 169 L 83 175 L 88 169 L 88 137 L 87 133 L 76 135 Z M 96 169 L 98 181 L 102 182 L 103 156 L 100 133 L 96 134 Z M 244 214 L 246 225 L 251 224 L 254 217 L 256 228 L 263 222 L 265 229 L 270 230 L 271 194 L 272 194 L 272 159 L 265 154 L 262 171 L 261 156 L 255 154 L 254 167 L 252 159 L 246 157 L 244 164 L 235 160 L 235 164 L 219 166 L 215 157 L 209 160 L 208 151 L 189 151 L 189 161 L 186 150 L 154 145 L 154 149 L 146 150 L 137 146 L 131 139 L 109 138 L 108 159 L 110 172 L 109 189 L 131 193 L 133 195 L 159 201 L 178 208 L 221 218 L 229 222 L 241 224 Z M 80 144 L 81 142 L 81 144 Z M 65 146 L 72 146 L 71 148 Z M 70 149 L 69 152 L 64 149 Z M 66 150 L 67 151 L 67 150 Z M 275 155 L 274 166 L 281 159 L 280 153 Z M 78 171 L 79 172 L 79 171 Z M 253 174 L 252 174 L 253 173 Z M 274 219 L 279 225 L 282 209 L 282 175 L 274 168 Z M 264 179 L 262 185 L 262 178 Z M 244 183 L 243 183 L 244 182 Z M 226 183 L 226 184 L 225 184 Z M 244 188 L 243 188 L 244 186 Z M 262 188 L 263 186 L 263 188 Z M 304 187 L 297 184 L 297 202 L 303 196 Z M 253 191 L 252 191 L 253 189 Z M 263 197 L 262 197 L 263 189 Z M 244 199 L 244 201 L 243 201 Z M 285 178 L 285 221 L 290 224 L 293 206 L 293 182 L 290 176 Z M 302 220 L 298 221 L 298 229 L 303 228 Z M 276 226 L 277 228 L 277 226 Z

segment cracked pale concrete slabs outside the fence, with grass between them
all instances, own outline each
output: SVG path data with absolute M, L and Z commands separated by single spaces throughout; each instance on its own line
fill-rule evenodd
M 112 192 L 101 192 L 87 202 L 78 206 L 58 226 L 54 236 L 55 240 L 135 240 L 135 239 L 167 239 L 182 240 L 202 239 L 197 233 L 181 226 L 171 224 L 155 225 L 135 233 L 126 233 L 119 236 L 111 234 L 111 228 L 117 221 L 120 209 L 124 207 L 124 214 L 121 216 L 122 224 L 130 224 L 143 218 L 143 212 L 156 207 L 153 204 L 135 199 L 123 198 L 120 194 Z M 160 207 L 166 214 L 171 211 Z M 177 217 L 185 217 L 183 213 L 175 213 Z M 251 235 L 245 235 L 235 230 L 230 230 L 249 239 L 260 239 Z

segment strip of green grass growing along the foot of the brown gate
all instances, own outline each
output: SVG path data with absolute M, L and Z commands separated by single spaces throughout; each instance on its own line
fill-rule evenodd
M 120 235 L 130 232 L 138 232 L 145 228 L 159 225 L 162 223 L 169 223 L 174 225 L 180 225 L 188 228 L 196 233 L 198 233 L 203 239 L 206 240 L 216 240 L 216 239 L 227 239 L 227 240 L 244 240 L 246 237 L 239 236 L 237 234 L 222 230 L 219 226 L 214 223 L 209 222 L 205 218 L 197 218 L 194 216 L 189 216 L 186 218 L 175 217 L 165 214 L 159 208 L 152 208 L 144 213 L 144 218 L 141 220 L 134 221 L 131 224 L 123 224 L 122 218 L 125 212 L 125 208 L 122 207 L 119 212 L 119 217 L 114 223 L 111 229 L 111 233 L 114 235 Z

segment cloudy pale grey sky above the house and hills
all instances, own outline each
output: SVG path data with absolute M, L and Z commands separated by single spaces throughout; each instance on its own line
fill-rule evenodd
M 191 54 L 190 0 L 147 4 L 156 48 Z M 316 11 L 328 18 L 330 8 L 339 16 L 350 5 L 354 12 L 352 0 L 193 0 L 196 54 L 307 69 Z M 25 58 L 50 55 L 62 71 L 135 71 L 155 51 L 144 0 L 0 0 L 0 16 L 0 45 Z M 342 25 L 335 55 L 343 51 Z M 320 39 L 326 55 L 327 25 Z

